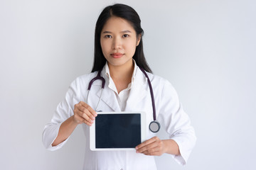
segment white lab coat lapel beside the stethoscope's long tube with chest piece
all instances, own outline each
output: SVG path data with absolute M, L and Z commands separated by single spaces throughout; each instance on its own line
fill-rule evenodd
M 124 111 L 138 111 L 138 109 L 141 108 L 140 106 L 143 105 L 142 100 L 144 100 L 148 93 L 146 88 L 146 77 L 144 77 L 144 74 L 138 68 Z

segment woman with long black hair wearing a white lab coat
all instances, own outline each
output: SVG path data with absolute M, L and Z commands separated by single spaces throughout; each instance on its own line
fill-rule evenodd
M 179 164 L 186 164 L 196 142 L 193 127 L 174 87 L 166 79 L 151 74 L 144 57 L 142 35 L 140 18 L 130 6 L 114 4 L 102 11 L 95 28 L 92 72 L 73 81 L 44 128 L 43 144 L 47 149 L 63 147 L 73 130 L 82 124 L 86 138 L 83 169 L 156 169 L 153 156 L 164 153 L 173 155 Z M 89 126 L 97 117 L 96 107 L 97 111 L 105 112 L 144 111 L 147 125 L 153 121 L 149 83 L 139 67 L 147 72 L 154 91 L 156 119 L 169 133 L 169 139 L 160 140 L 148 130 L 148 140 L 134 151 L 91 151 Z M 105 89 L 101 88 L 102 81 L 96 80 L 87 96 L 89 82 L 98 72 L 105 79 Z

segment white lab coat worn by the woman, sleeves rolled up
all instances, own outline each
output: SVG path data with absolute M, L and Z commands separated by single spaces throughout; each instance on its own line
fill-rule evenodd
M 146 123 L 148 126 L 153 120 L 149 86 L 142 71 L 140 69 L 136 70 L 134 83 L 129 93 L 127 105 L 124 111 L 146 112 Z M 174 159 L 176 159 L 179 164 L 186 164 L 188 156 L 196 143 L 196 135 L 193 127 L 191 126 L 188 115 L 183 111 L 176 91 L 169 81 L 153 74 L 147 74 L 151 80 L 154 91 L 156 118 L 161 124 L 161 128 L 164 128 L 164 130 L 169 133 L 169 138 L 175 140 L 178 144 L 181 156 L 174 156 Z M 96 77 L 96 75 L 97 72 L 85 74 L 75 79 L 75 81 L 70 85 L 64 101 L 58 105 L 51 122 L 48 123 L 43 130 L 43 144 L 47 149 L 60 149 L 63 147 L 65 142 L 68 141 L 65 140 L 55 147 L 51 146 L 55 137 L 58 135 L 61 123 L 73 115 L 74 105 L 80 101 L 86 102 L 88 84 L 91 79 Z M 107 86 L 109 84 L 109 78 L 105 74 L 102 74 L 102 77 L 105 78 L 106 85 L 105 89 L 102 91 L 102 101 L 100 102 L 98 110 L 106 112 L 120 111 L 114 91 Z M 100 80 L 97 80 L 92 84 L 90 96 L 87 101 L 87 104 L 94 109 L 100 98 L 101 85 L 102 82 Z M 82 128 L 86 136 L 85 162 L 83 169 L 156 169 L 154 157 L 137 154 L 135 149 L 134 151 L 92 152 L 89 147 L 89 127 L 82 124 Z M 157 134 L 147 130 L 148 139 L 155 135 Z

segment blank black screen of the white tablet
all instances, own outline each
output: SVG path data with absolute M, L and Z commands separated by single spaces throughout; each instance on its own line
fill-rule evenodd
M 98 114 L 95 148 L 134 148 L 142 142 L 141 114 Z

